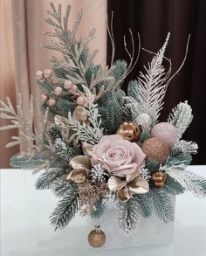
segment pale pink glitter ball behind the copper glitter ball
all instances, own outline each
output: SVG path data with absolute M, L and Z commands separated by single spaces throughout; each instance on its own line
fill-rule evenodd
M 168 144 L 169 148 L 173 147 L 175 142 L 179 139 L 177 129 L 174 125 L 168 122 L 160 122 L 156 124 L 151 131 L 151 135 Z

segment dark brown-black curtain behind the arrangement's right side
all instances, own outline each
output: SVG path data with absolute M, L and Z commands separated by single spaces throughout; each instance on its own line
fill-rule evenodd
M 206 1 L 205 0 L 108 0 L 108 16 L 113 11 L 113 31 L 116 45 L 115 59 L 127 59 L 123 36 L 131 28 L 137 44 L 137 32 L 141 34 L 141 46 L 157 52 L 168 31 L 171 37 L 166 57 L 172 59 L 172 71 L 178 69 L 184 57 L 189 34 L 189 53 L 185 65 L 168 87 L 161 121 L 180 101 L 189 100 L 194 120 L 183 139 L 197 142 L 198 154 L 193 164 L 206 164 Z M 107 61 L 111 60 L 111 45 L 107 43 Z M 153 56 L 141 51 L 141 57 L 128 80 L 134 80 L 142 66 Z M 127 88 L 127 81 L 123 85 Z

